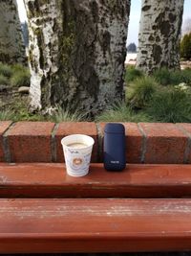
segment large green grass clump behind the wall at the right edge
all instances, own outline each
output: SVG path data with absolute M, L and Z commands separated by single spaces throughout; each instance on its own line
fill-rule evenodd
M 147 113 L 159 122 L 191 122 L 191 96 L 180 89 L 163 89 L 154 95 Z

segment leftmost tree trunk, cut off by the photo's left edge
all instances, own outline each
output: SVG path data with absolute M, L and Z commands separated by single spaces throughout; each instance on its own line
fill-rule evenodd
M 0 1 L 0 61 L 27 63 L 15 0 Z

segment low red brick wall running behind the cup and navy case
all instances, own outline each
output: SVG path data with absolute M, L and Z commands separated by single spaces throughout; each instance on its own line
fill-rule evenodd
M 123 125 L 128 163 L 191 163 L 191 124 Z M 92 162 L 101 162 L 104 127 L 88 122 L 0 122 L 0 162 L 63 162 L 60 140 L 74 133 L 95 139 Z

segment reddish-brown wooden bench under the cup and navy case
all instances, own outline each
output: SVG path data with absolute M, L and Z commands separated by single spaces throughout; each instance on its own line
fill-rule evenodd
M 0 253 L 191 250 L 191 166 L 0 164 Z

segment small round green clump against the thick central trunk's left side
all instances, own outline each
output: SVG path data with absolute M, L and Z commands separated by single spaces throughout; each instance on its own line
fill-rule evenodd
M 24 70 L 17 70 L 14 71 L 14 74 L 11 77 L 11 85 L 15 87 L 30 86 L 30 80 L 31 74 L 27 68 Z

